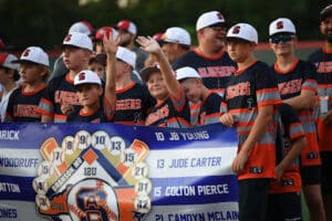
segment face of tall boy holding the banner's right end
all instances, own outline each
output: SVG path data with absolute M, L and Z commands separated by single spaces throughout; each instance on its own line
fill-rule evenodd
M 240 39 L 230 39 L 227 41 L 227 51 L 232 61 L 242 63 L 251 55 L 252 44 Z

